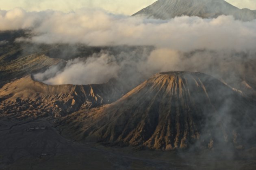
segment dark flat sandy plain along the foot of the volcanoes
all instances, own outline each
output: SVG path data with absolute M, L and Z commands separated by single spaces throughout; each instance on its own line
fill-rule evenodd
M 28 132 L 28 127 L 44 126 L 46 130 Z M 135 151 L 99 144 L 81 144 L 63 138 L 50 120 L 12 123 L 0 119 L 1 170 L 85 170 L 85 169 L 161 169 L 254 170 L 253 160 L 197 159 L 162 151 Z

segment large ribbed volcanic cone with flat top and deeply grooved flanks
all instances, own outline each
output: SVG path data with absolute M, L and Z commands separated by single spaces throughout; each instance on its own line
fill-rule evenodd
M 252 109 L 240 94 L 206 74 L 164 72 L 117 102 L 81 110 L 56 126 L 65 136 L 92 142 L 163 150 L 193 144 L 241 148 L 254 121 Z

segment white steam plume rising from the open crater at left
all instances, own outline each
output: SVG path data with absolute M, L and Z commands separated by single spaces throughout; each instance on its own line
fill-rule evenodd
M 52 66 L 43 73 L 35 74 L 34 78 L 50 85 L 99 84 L 117 77 L 118 70 L 119 66 L 114 57 L 103 53 L 100 56 L 89 57 L 87 60 L 82 58 L 69 60 L 63 69 Z

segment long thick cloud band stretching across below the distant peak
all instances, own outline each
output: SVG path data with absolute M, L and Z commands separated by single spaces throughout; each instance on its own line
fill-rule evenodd
M 193 49 L 254 49 L 256 20 L 242 22 L 231 16 L 216 19 L 176 17 L 162 21 L 102 10 L 80 9 L 72 13 L 16 8 L 0 12 L 0 30 L 30 29 L 34 43 L 84 43 L 92 46 L 155 45 L 178 51 Z

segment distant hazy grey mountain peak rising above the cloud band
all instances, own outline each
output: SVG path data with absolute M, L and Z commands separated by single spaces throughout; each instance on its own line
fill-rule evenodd
M 233 15 L 235 19 L 251 21 L 256 19 L 255 11 L 239 9 L 224 0 L 158 0 L 133 16 L 156 19 L 171 19 L 177 16 L 198 16 L 215 18 L 219 15 Z

